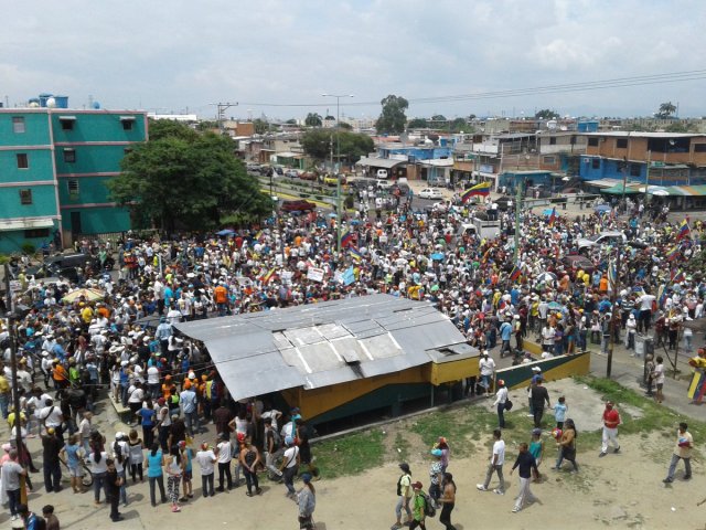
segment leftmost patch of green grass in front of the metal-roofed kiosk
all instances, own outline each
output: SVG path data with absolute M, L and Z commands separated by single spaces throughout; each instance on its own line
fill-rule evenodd
M 315 445 L 317 465 L 327 478 L 357 475 L 385 459 L 384 434 L 379 427 Z

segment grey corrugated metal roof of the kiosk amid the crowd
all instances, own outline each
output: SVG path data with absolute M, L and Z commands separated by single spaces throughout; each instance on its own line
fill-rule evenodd
M 431 304 L 391 295 L 181 322 L 175 328 L 205 343 L 235 400 L 478 356 Z

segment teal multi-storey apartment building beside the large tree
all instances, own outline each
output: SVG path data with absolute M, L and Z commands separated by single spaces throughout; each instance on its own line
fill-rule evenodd
M 0 108 L 0 253 L 129 230 L 106 182 L 147 134 L 145 112 Z

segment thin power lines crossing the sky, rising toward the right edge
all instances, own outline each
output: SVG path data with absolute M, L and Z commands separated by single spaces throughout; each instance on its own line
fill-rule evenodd
M 460 94 L 437 97 L 407 98 L 410 104 L 425 105 L 429 103 L 451 103 L 475 99 L 499 99 L 505 97 L 531 96 L 537 94 L 561 94 L 573 92 L 592 92 L 608 88 L 623 88 L 630 86 L 645 86 L 664 83 L 684 83 L 689 81 L 706 80 L 706 70 L 691 70 L 684 72 L 668 72 L 663 74 L 638 75 L 631 77 L 616 77 L 611 80 L 588 81 L 580 83 L 566 83 L 557 85 L 533 86 L 525 88 L 512 88 L 505 91 L 479 92 L 475 94 Z M 242 103 L 254 107 L 325 107 L 325 103 Z M 341 106 L 360 107 L 379 105 L 374 102 L 341 103 Z

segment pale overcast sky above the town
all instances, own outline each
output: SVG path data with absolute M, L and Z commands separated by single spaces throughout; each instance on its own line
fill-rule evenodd
M 645 116 L 667 100 L 681 116 L 706 115 L 704 0 L 11 4 L 0 32 L 0 97 L 10 106 L 47 92 L 75 108 L 93 97 L 109 109 L 208 117 L 210 104 L 237 102 L 226 116 L 288 119 L 335 115 L 335 99 L 321 97 L 332 93 L 353 94 L 341 113 L 356 117 L 376 117 L 388 94 L 409 100 L 410 117 Z M 492 95 L 685 71 L 700 78 Z

